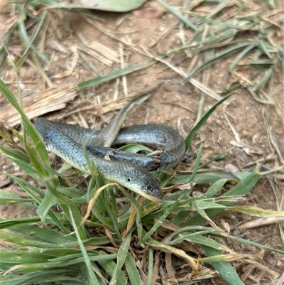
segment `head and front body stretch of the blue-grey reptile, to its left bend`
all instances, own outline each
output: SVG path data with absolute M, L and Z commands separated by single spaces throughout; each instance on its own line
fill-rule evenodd
M 38 130 L 46 149 L 64 159 L 75 168 L 90 173 L 89 165 L 84 156 L 82 146 L 62 133 L 48 120 L 39 118 L 35 120 L 35 128 Z M 87 155 L 94 162 L 96 168 L 102 172 L 105 178 L 115 181 L 130 190 L 142 195 L 149 200 L 162 202 L 164 197 L 155 178 L 141 166 L 126 161 L 108 161 L 87 151 Z

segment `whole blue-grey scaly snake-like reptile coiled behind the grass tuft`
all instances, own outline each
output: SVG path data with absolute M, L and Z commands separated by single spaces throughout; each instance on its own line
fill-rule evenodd
M 163 201 L 160 185 L 148 171 L 171 168 L 185 154 L 185 140 L 175 130 L 163 125 L 140 125 L 121 129 L 121 125 L 133 106 L 148 99 L 144 92 L 129 101 L 102 131 L 94 131 L 70 124 L 50 122 L 39 118 L 35 120 L 38 130 L 48 151 L 63 158 L 67 163 L 85 173 L 90 173 L 82 144 L 87 141 L 87 156 L 105 178 L 115 181 L 130 190 L 156 202 Z M 109 146 L 135 142 L 163 146 L 153 156 L 129 154 L 111 149 Z M 105 156 L 108 159 L 105 159 Z

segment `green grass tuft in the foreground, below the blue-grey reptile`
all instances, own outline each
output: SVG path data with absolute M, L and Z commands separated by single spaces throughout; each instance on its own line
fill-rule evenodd
M 68 280 L 74 284 L 77 282 L 101 284 L 106 280 L 109 280 L 110 284 L 125 284 L 128 279 L 141 284 L 142 276 L 139 272 L 146 270 L 145 273 L 148 272 L 147 274 L 151 276 L 151 270 L 141 269 L 133 261 L 137 258 L 135 252 L 146 247 L 143 253 L 146 264 L 155 262 L 158 258 L 156 255 L 155 257 L 151 255 L 153 250 L 160 254 L 164 252 L 172 254 L 175 259 L 180 259 L 180 262 L 189 264 L 192 267 L 192 279 L 202 278 L 202 276 L 207 278 L 208 272 L 212 272 L 206 266 L 208 262 L 222 276 L 226 275 L 224 272 L 230 270 L 231 276 L 226 277 L 230 282 L 243 284 L 234 267 L 228 262 L 239 259 L 242 262 L 251 262 L 250 256 L 236 254 L 214 239 L 215 236 L 225 239 L 236 237 L 217 227 L 212 222 L 212 217 L 226 210 L 258 217 L 282 215 L 277 211 L 232 206 L 249 193 L 261 178 L 258 173 L 245 175 L 242 173 L 241 181 L 236 182 L 235 179 L 234 187 L 226 190 L 219 197 L 215 195 L 220 190 L 224 190 L 224 185 L 229 179 L 214 176 L 213 173 L 212 179 L 208 181 L 213 185 L 201 197 L 194 198 L 189 195 L 195 187 L 195 184 L 191 183 L 185 189 L 176 188 L 173 193 L 168 193 L 165 196 L 165 203 L 159 207 L 144 199 L 136 200 L 123 188 L 121 190 L 126 198 L 118 202 L 113 185 L 107 185 L 106 189 L 102 187 L 104 179 L 101 176 L 93 176 L 85 193 L 66 185 L 62 181 L 62 174 L 55 175 L 56 172 L 49 167 L 45 149 L 42 142 L 38 140 L 38 134 L 33 129 L 33 125 L 2 81 L 1 91 L 22 114 L 22 120 L 25 122 L 23 126 L 26 126 L 25 137 L 17 134 L 22 143 L 21 149 L 11 144 L 9 139 L 7 147 L 1 146 L 1 153 L 11 158 L 23 171 L 40 183 L 40 186 L 36 187 L 7 174 L 26 191 L 28 198 L 3 193 L 1 205 L 25 205 L 37 210 L 38 217 L 0 221 L 1 238 L 13 248 L 13 251 L 1 249 L 1 270 L 5 272 L 0 276 L 1 281 L 5 284 L 16 284 L 16 282 L 28 284 L 40 275 L 37 282 L 42 284 L 50 280 L 56 280 L 58 284 L 64 284 Z M 209 114 L 228 98 L 229 96 L 217 102 L 200 119 L 196 127 L 200 128 Z M 192 130 L 188 137 L 192 138 L 195 133 L 196 131 Z M 170 185 L 182 179 L 186 179 L 187 183 L 190 181 L 198 183 L 199 179 L 196 175 L 200 168 L 201 153 L 202 149 L 190 176 L 177 171 L 173 180 L 173 176 L 160 173 L 160 183 Z M 89 203 L 89 210 L 83 218 L 80 209 L 85 203 Z M 58 205 L 61 212 L 55 212 L 53 205 Z M 208 222 L 206 227 L 202 226 L 205 220 Z M 133 240 L 136 240 L 135 244 Z M 186 248 L 186 244 L 192 242 L 199 244 L 206 252 L 205 263 L 203 259 L 197 259 L 197 252 L 180 249 L 180 244 L 184 244 Z M 261 244 L 253 244 L 261 246 Z M 226 253 L 220 254 L 220 249 Z M 284 252 L 281 253 L 284 254 Z M 261 264 L 257 262 L 255 264 L 261 268 Z M 171 267 L 179 271 L 179 267 L 175 264 L 171 264 Z M 50 270 L 53 274 L 50 274 Z M 84 272 L 83 275 L 82 272 Z M 274 271 L 270 272 L 275 274 Z

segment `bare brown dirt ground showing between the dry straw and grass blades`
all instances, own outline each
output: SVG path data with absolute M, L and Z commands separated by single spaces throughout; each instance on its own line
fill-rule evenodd
M 168 2 L 172 5 L 180 4 L 180 1 L 175 0 Z M 155 1 L 148 1 L 146 4 L 146 6 L 155 5 Z M 260 1 L 256 1 L 251 5 L 252 10 L 261 9 Z M 8 23 L 11 21 L 13 18 L 11 17 L 11 15 L 13 15 L 11 11 L 11 6 L 3 6 L 2 3 L 1 23 Z M 125 41 L 131 43 L 131 45 L 139 48 L 143 46 L 143 48 L 151 50 L 151 53 L 153 54 L 163 53 L 180 45 L 179 30 L 177 26 L 175 26 L 178 21 L 177 18 L 170 13 L 165 13 L 159 18 L 153 19 L 137 18 L 131 13 L 115 14 L 99 11 L 97 12 L 97 15 L 105 20 L 105 22 L 100 22 L 102 28 L 109 31 L 114 30 L 115 36 L 119 38 L 124 36 Z M 97 28 L 87 23 L 84 18 L 78 16 L 78 14 L 69 11 L 49 11 L 47 21 L 48 26 L 45 26 L 44 33 L 41 35 L 45 38 L 39 38 L 38 43 L 41 44 L 40 47 L 42 52 L 50 58 L 50 65 L 45 65 L 44 70 L 53 86 L 58 86 L 63 82 L 68 84 L 80 82 L 97 76 L 94 71 L 87 67 L 86 62 L 84 62 L 81 57 L 75 62 L 77 50 L 84 46 L 78 35 L 82 36 L 87 43 L 98 41 L 119 54 L 119 41 L 102 33 L 102 31 L 99 31 Z M 158 41 L 156 45 L 153 45 L 153 43 L 163 35 L 164 31 L 170 27 L 173 28 L 168 35 Z M 283 36 L 283 33 L 280 34 L 280 36 L 281 35 Z M 186 38 L 190 38 L 190 31 L 188 29 L 185 36 Z M 281 37 L 276 40 L 281 41 Z M 141 63 L 148 59 L 146 55 L 135 52 L 127 45 L 123 45 L 123 48 L 126 66 Z M 24 47 L 21 41 L 18 41 L 16 36 L 12 36 L 8 47 L 11 56 L 15 58 L 17 54 L 22 53 L 23 49 Z M 65 51 L 67 52 L 65 53 Z M 113 63 L 111 66 L 107 66 L 90 55 L 84 54 L 84 57 L 87 57 L 88 62 L 95 67 L 99 75 L 104 75 L 107 74 L 107 72 L 111 72 L 111 70 L 120 68 L 120 63 Z M 178 60 L 178 56 L 174 60 Z M 229 57 L 224 60 L 219 60 L 212 65 L 209 72 L 209 88 L 215 92 L 220 92 L 226 87 L 229 80 L 231 80 L 231 77 L 229 77 L 228 66 L 233 60 L 233 57 Z M 72 65 L 72 63 L 75 63 L 75 68 L 68 74 L 66 70 L 70 70 L 70 65 Z M 182 63 L 183 67 L 189 65 L 190 60 Z M 244 69 L 242 72 L 243 75 L 247 77 L 250 71 Z M 32 91 L 40 93 L 49 87 L 48 82 L 40 76 L 38 69 L 32 65 L 31 61 L 30 63 L 23 65 L 18 72 L 18 76 L 19 81 L 21 82 L 23 95 L 29 95 Z M 253 100 L 253 97 L 251 97 L 247 90 L 239 89 L 226 107 L 226 114 L 229 116 L 231 124 L 240 134 L 241 141 L 244 144 L 251 146 L 252 149 L 260 151 L 260 154 L 248 156 L 244 151 L 241 151 L 241 149 L 234 149 L 233 151 L 230 151 L 223 160 L 214 163 L 214 166 L 241 171 L 247 163 L 266 158 L 266 156 L 270 154 L 273 154 L 273 158 L 268 164 L 272 168 L 278 168 L 281 165 L 280 159 L 275 154 L 275 150 L 268 138 L 266 127 L 264 126 L 263 109 L 266 109 L 266 112 L 268 112 L 268 123 L 271 128 L 271 133 L 278 139 L 278 142 L 283 149 L 284 90 L 283 84 L 281 83 L 282 76 L 282 72 L 275 74 L 273 84 L 273 101 L 275 102 L 275 106 L 263 106 L 256 102 L 256 100 Z M 1 67 L 1 77 L 14 94 L 16 94 L 16 77 L 9 59 L 6 59 Z M 195 78 L 202 81 L 202 72 Z M 200 90 L 197 90 L 197 88 L 190 84 L 187 84 L 186 88 L 182 87 L 182 85 L 179 84 L 181 80 L 180 75 L 173 70 L 165 69 L 165 65 L 161 63 L 157 63 L 150 68 L 127 75 L 126 86 L 129 95 L 137 94 L 147 88 L 153 87 L 158 81 L 162 81 L 163 86 L 155 92 L 151 97 L 151 100 L 148 100 L 145 104 L 143 103 L 142 106 L 133 109 L 125 124 L 166 124 L 174 129 L 178 129 L 183 135 L 187 134 L 195 124 L 197 110 L 200 104 Z M 114 90 L 116 90 L 116 88 L 119 90 L 119 97 L 124 97 L 125 94 L 122 80 L 113 80 L 98 85 L 97 87 L 77 92 L 75 100 L 69 102 L 65 109 L 48 114 L 47 117 L 53 119 L 61 119 L 64 117 L 66 122 L 80 123 L 82 125 L 87 122 L 89 126 L 92 127 L 101 126 L 104 122 L 109 122 L 109 119 L 113 116 L 116 108 L 114 107 L 111 109 L 111 112 L 108 112 L 107 109 L 104 110 L 104 112 L 101 112 L 96 109 L 96 105 L 98 100 L 101 100 L 101 102 L 110 100 L 114 96 Z M 87 102 L 85 102 L 86 97 Z M 3 95 L 0 97 L 0 102 L 5 109 L 6 102 Z M 212 106 L 214 102 L 216 102 L 216 100 L 207 97 L 205 109 Z M 84 109 L 84 107 L 87 106 L 89 109 L 87 111 L 77 111 L 77 106 L 80 106 L 80 109 Z M 93 107 L 91 108 L 90 106 Z M 75 112 L 73 112 L 74 110 Z M 72 114 L 70 114 L 71 111 Z M 2 119 L 5 119 L 5 117 Z M 203 156 L 206 156 L 212 151 L 218 154 L 225 149 L 229 149 L 231 147 L 230 141 L 232 140 L 235 140 L 235 137 L 224 117 L 224 107 L 219 107 L 195 137 L 192 144 L 192 156 L 195 158 L 200 144 L 203 146 Z M 4 157 L 1 157 L 1 171 L 25 177 L 18 166 L 15 166 Z M 13 181 L 7 179 L 3 174 L 0 175 L 0 178 L 1 187 L 4 190 L 21 193 L 21 189 L 13 184 Z M 263 178 L 256 187 L 251 190 L 248 200 L 240 205 L 251 205 L 259 208 L 277 210 L 275 203 L 276 197 L 278 201 L 281 201 L 281 199 L 283 201 L 283 172 L 280 172 L 279 176 L 274 176 L 273 181 L 275 182 L 275 193 L 273 193 L 268 178 Z M 27 210 L 24 207 L 1 208 L 1 217 L 4 218 L 26 217 L 32 215 L 33 211 Z M 222 216 L 222 218 L 229 223 L 232 229 L 234 229 L 233 234 L 244 236 L 249 240 L 265 244 L 268 247 L 283 249 L 283 242 L 280 239 L 280 225 L 264 225 L 238 231 L 235 229 L 234 223 L 256 220 L 256 217 L 231 213 Z M 220 225 L 220 217 L 217 217 L 215 222 Z M 222 227 L 222 225 L 220 225 L 220 227 Z M 239 244 L 230 240 L 226 242 L 227 245 L 232 249 L 235 249 L 236 252 L 255 254 L 263 260 L 263 264 L 266 264 L 267 267 L 277 271 L 279 274 L 283 274 L 283 255 L 268 252 L 263 249 L 256 249 L 247 246 L 246 244 Z M 271 281 L 271 277 L 267 274 L 262 276 L 262 273 L 254 269 L 253 266 L 239 266 L 238 268 L 239 274 L 243 279 L 245 279 L 246 274 L 251 270 L 251 274 L 248 274 L 249 277 L 245 279 L 246 284 L 268 284 Z M 222 279 L 212 279 L 202 282 L 201 284 L 222 285 L 226 284 L 226 282 Z

